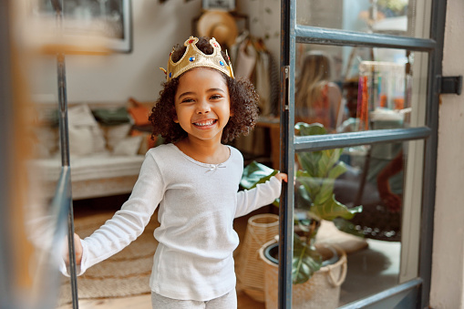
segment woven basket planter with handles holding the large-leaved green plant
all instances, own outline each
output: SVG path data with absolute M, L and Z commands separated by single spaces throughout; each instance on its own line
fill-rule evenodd
M 316 244 L 316 248 L 323 256 L 325 252 L 335 250 L 338 260 L 321 267 L 307 282 L 293 285 L 292 308 L 294 309 L 335 309 L 338 307 L 340 285 L 344 283 L 346 276 L 346 253 L 334 244 Z M 260 249 L 260 257 L 265 265 L 265 303 L 266 309 L 277 309 L 279 265 L 277 260 L 266 256 L 269 255 L 270 249 L 278 251 L 278 243 L 276 241 L 266 242 Z

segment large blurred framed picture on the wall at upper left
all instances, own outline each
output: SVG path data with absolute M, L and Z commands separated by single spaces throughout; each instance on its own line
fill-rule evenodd
M 60 3 L 59 0 L 36 0 L 33 15 L 53 20 Z M 132 51 L 131 0 L 63 0 L 62 13 L 64 36 L 98 36 L 108 49 Z

